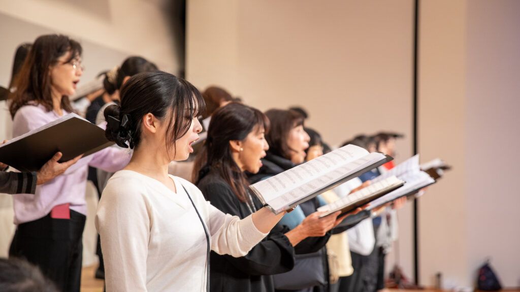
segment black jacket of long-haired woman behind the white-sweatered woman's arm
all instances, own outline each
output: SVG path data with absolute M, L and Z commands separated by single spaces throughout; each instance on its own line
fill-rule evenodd
M 241 202 L 230 185 L 210 169 L 199 180 L 197 187 L 206 200 L 224 213 L 245 218 L 251 214 L 251 206 Z M 251 196 L 255 209 L 262 208 L 262 203 Z M 262 242 L 249 253 L 240 258 L 229 255 L 218 255 L 211 252 L 210 256 L 210 289 L 211 291 L 237 292 L 272 292 L 275 290 L 272 282 L 273 274 L 290 271 L 294 267 L 294 248 L 284 233 L 289 231 L 283 225 L 276 225 Z

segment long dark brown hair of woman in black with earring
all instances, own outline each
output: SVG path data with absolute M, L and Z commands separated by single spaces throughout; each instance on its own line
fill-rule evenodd
M 244 140 L 255 129 L 268 130 L 269 120 L 259 110 L 241 103 L 229 103 L 217 109 L 207 129 L 202 153 L 197 156 L 193 169 L 193 181 L 199 182 L 205 172 L 213 167 L 230 185 L 240 201 L 246 200 L 248 181 L 231 155 L 229 141 Z

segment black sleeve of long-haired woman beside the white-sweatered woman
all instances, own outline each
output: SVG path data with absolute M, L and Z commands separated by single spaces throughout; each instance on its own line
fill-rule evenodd
M 211 204 L 230 215 L 240 216 L 238 204 L 245 204 L 227 185 L 220 183 L 206 184 L 201 191 L 209 198 Z M 269 235 L 255 245 L 248 254 L 235 258 L 226 255 L 228 260 L 238 270 L 250 275 L 272 275 L 290 271 L 294 267 L 294 248 L 289 238 L 283 233 L 287 228 L 277 225 Z

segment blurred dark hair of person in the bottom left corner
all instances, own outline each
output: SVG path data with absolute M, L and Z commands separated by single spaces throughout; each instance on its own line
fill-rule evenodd
M 58 292 L 36 266 L 17 258 L 0 259 L 0 291 Z

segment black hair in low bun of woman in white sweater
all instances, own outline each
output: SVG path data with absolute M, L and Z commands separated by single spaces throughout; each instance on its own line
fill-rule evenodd
M 192 117 L 204 111 L 202 95 L 185 79 L 162 71 L 139 73 L 123 85 L 121 105 L 110 105 L 103 113 L 105 136 L 120 147 L 137 148 L 142 117 L 151 113 L 160 120 L 170 120 L 166 128 L 166 147 L 170 148 L 186 134 Z

